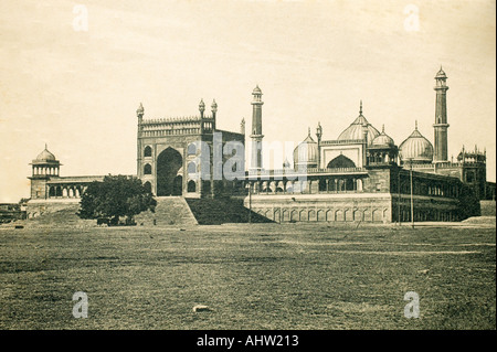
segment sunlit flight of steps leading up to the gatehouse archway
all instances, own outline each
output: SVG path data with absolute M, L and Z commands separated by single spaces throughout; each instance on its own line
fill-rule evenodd
M 156 196 L 156 201 L 155 213 L 146 211 L 135 215 L 138 226 L 197 225 L 197 220 L 183 198 Z

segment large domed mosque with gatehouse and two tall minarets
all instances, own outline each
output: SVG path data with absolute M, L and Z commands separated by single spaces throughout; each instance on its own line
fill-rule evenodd
M 486 181 L 486 152 L 464 147 L 457 160 L 447 156 L 447 76 L 435 76 L 434 143 L 417 129 L 399 146 L 359 116 L 337 139 L 322 139 L 318 124 L 295 148 L 293 164 L 263 168 L 262 90 L 252 92 L 251 135 L 245 121 L 239 132 L 216 128 L 218 104 L 198 116 L 145 119 L 137 109 L 137 174 L 157 198 L 209 200 L 239 198 L 245 207 L 274 222 L 409 222 L 461 221 L 479 215 L 479 201 L 495 200 L 495 183 Z M 243 156 L 230 164 L 235 178 L 219 172 L 230 162 L 233 143 L 251 138 L 251 164 Z M 208 156 L 208 157 L 207 157 Z M 31 163 L 28 217 L 77 203 L 96 177 L 61 177 L 61 163 L 45 149 Z

